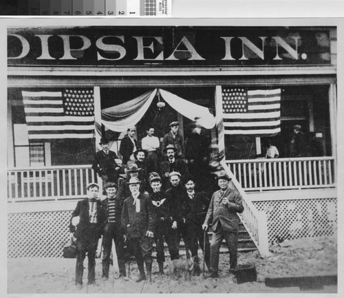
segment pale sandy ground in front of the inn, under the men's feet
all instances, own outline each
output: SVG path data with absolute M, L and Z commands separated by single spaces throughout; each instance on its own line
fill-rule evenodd
M 255 264 L 258 278 L 255 282 L 237 284 L 228 276 L 228 254 L 220 255 L 218 279 L 169 277 L 169 264 L 165 262 L 166 275 L 159 276 L 158 264 L 153 262 L 153 282 L 136 283 L 138 269 L 131 263 L 130 279 L 118 279 L 118 272 L 110 266 L 110 278 L 101 279 L 101 260 L 96 259 L 96 285 L 87 286 L 87 259 L 85 260 L 84 286 L 74 285 L 75 259 L 17 258 L 8 259 L 8 293 L 261 293 L 261 292 L 332 292 L 336 286 L 321 290 L 300 290 L 299 287 L 269 288 L 266 277 L 303 275 L 332 275 L 337 272 L 337 250 L 334 237 L 304 239 L 272 247 L 270 257 L 261 258 L 257 252 L 239 255 L 239 264 Z M 202 253 L 200 254 L 202 257 Z M 202 266 L 201 266 L 202 268 Z M 155 273 L 155 274 L 154 274 Z

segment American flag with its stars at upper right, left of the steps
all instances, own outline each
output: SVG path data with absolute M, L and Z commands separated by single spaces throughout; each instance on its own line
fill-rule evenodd
M 22 92 L 29 140 L 94 138 L 91 89 Z

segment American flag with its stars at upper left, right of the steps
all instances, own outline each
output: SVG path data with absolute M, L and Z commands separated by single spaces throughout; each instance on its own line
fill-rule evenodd
M 281 131 L 281 89 L 222 89 L 225 134 L 264 136 Z

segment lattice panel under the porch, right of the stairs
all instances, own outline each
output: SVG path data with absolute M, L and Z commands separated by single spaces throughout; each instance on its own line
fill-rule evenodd
M 337 231 L 336 198 L 257 201 L 253 204 L 267 214 L 269 244 L 334 235 Z

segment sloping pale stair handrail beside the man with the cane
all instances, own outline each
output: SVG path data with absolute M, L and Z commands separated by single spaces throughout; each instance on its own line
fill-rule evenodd
M 235 178 L 235 175 L 230 171 L 226 161 L 222 160 L 220 163 L 229 177 L 232 178 L 230 187 L 236 189 L 243 198 L 244 212 L 238 214 L 242 224 L 244 224 L 252 241 L 255 242 L 261 257 L 268 257 L 270 252 L 268 242 L 268 217 L 266 212 L 259 211 L 255 205 L 250 202 L 246 196 L 246 192 L 237 181 L 237 178 Z

